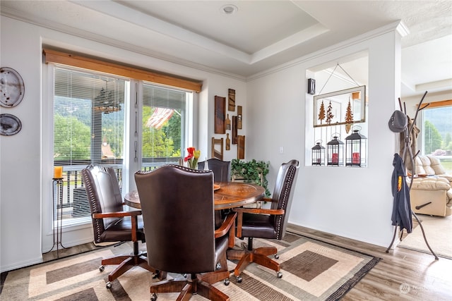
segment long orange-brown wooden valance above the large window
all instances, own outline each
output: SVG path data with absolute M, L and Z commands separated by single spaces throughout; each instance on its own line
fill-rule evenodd
M 55 51 L 53 49 L 43 49 L 42 52 L 44 53 L 45 63 L 61 63 L 68 66 L 96 70 L 114 75 L 121 75 L 126 78 L 145 80 L 162 85 L 179 87 L 194 92 L 201 92 L 201 87 L 203 85 L 202 82 L 196 80 L 186 80 L 183 78 L 177 78 L 172 75 L 123 66 L 119 63 L 111 63 L 99 59 L 91 59 L 85 56 Z

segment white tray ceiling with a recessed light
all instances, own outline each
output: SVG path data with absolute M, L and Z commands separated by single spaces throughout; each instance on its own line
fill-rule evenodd
M 402 20 L 402 97 L 452 89 L 450 0 L 0 3 L 2 16 L 244 80 Z

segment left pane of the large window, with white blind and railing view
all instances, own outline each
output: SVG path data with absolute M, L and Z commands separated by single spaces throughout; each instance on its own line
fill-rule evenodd
M 81 169 L 106 164 L 121 180 L 126 80 L 65 67 L 54 69 L 54 165 L 63 166 L 63 219 L 90 216 Z

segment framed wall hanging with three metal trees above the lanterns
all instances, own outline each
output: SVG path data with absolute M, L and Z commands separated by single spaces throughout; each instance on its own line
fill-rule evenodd
M 314 128 L 366 121 L 366 86 L 314 96 Z

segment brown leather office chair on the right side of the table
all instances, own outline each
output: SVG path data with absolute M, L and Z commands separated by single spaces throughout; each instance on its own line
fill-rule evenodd
M 229 250 L 229 259 L 239 260 L 234 275 L 238 282 L 242 282 L 240 274 L 251 262 L 261 264 L 276 271 L 278 278 L 283 277 L 280 264 L 270 259 L 268 255 L 274 254 L 278 259 L 278 250 L 275 247 L 258 247 L 253 249 L 253 238 L 283 239 L 289 218 L 293 190 L 297 180 L 299 162 L 291 160 L 280 166 L 276 177 L 273 196 L 261 201 L 271 202 L 270 209 L 234 208 L 237 212 L 237 237 L 248 238 L 246 250 Z

